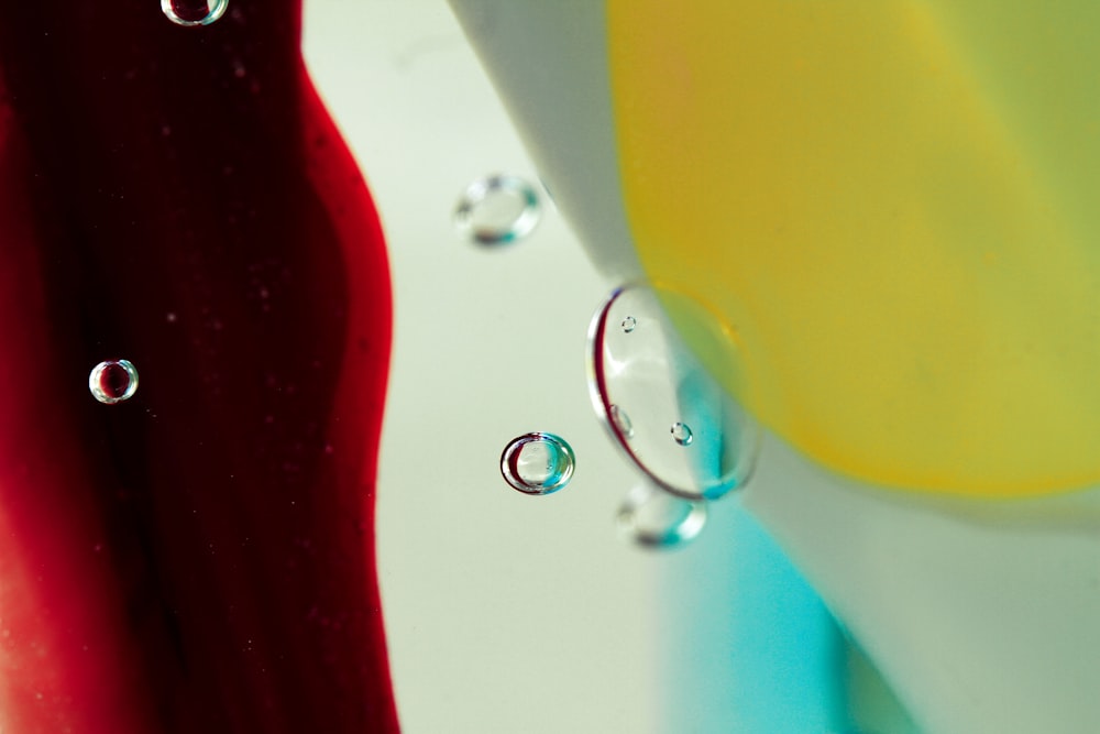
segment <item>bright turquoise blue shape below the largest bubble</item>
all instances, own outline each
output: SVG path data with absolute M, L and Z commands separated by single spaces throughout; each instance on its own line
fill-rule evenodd
M 660 731 L 837 734 L 845 642 L 798 569 L 736 499 L 662 559 Z

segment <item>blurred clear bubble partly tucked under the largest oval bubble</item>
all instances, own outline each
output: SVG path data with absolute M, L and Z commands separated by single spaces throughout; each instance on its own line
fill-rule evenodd
M 642 483 L 630 490 L 616 518 L 619 532 L 647 548 L 671 549 L 694 540 L 706 525 L 706 502 Z

